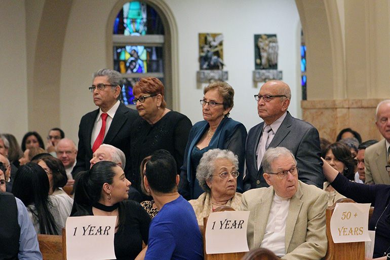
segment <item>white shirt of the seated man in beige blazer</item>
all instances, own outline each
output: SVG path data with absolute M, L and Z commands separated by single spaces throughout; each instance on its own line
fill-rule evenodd
M 267 248 L 278 256 L 286 254 L 285 236 L 290 198 L 284 199 L 274 194 L 267 227 L 260 247 Z

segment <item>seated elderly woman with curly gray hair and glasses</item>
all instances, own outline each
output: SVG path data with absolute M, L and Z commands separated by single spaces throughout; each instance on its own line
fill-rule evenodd
M 205 193 L 189 201 L 199 225 L 218 207 L 240 207 L 242 194 L 236 192 L 238 169 L 238 157 L 229 150 L 216 148 L 203 154 L 197 167 L 197 179 Z

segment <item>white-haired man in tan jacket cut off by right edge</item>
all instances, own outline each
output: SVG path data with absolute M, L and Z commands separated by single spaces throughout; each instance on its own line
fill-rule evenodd
M 366 166 L 366 184 L 390 184 L 390 176 L 386 171 L 390 150 L 390 99 L 380 102 L 376 107 L 375 125 L 384 139 L 367 147 L 364 154 Z

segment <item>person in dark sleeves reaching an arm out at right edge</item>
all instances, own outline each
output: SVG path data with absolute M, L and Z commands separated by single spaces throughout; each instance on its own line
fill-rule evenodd
M 330 166 L 327 161 L 324 159 L 323 161 L 324 175 L 337 192 L 358 203 L 371 203 L 371 206 L 374 207 L 374 212 L 368 222 L 368 230 L 375 230 L 373 257 L 380 260 L 388 259 L 386 254 L 390 253 L 390 207 L 388 206 L 390 202 L 390 185 L 366 185 L 349 181 L 349 179 Z M 390 167 L 387 168 L 390 170 Z M 366 257 L 366 259 L 371 258 Z

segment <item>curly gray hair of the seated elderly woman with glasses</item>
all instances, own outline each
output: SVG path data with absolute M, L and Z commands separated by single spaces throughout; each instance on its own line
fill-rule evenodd
M 215 172 L 215 161 L 218 159 L 226 159 L 233 163 L 236 170 L 239 168 L 239 159 L 237 155 L 229 150 L 213 149 L 203 154 L 201 161 L 197 167 L 197 179 L 199 185 L 205 192 L 210 192 L 210 188 L 206 181 L 213 181 L 213 173 Z

